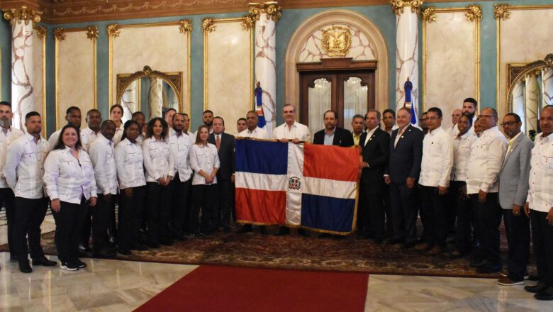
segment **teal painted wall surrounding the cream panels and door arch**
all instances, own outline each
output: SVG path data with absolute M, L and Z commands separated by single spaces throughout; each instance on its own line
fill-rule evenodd
M 464 7 L 474 2 L 448 2 L 432 3 L 425 2 L 425 6 L 437 7 Z M 484 18 L 481 21 L 481 107 L 496 106 L 496 20 L 493 18 L 493 4 L 508 3 L 511 5 L 532 5 L 532 4 L 553 4 L 553 0 L 503 0 L 479 2 L 484 9 Z M 390 6 L 350 6 L 341 8 L 318 8 L 318 9 L 293 9 L 283 10 L 281 19 L 277 22 L 277 111 L 281 111 L 284 101 L 284 56 L 291 36 L 298 26 L 313 16 L 315 13 L 332 9 L 347 9 L 361 13 L 374 23 L 381 31 L 389 51 L 389 106 L 393 107 L 395 97 L 396 72 L 396 26 L 395 16 Z M 54 39 L 52 30 L 57 27 L 78 28 L 88 25 L 96 25 L 100 30 L 97 43 L 98 60 L 98 105 L 102 111 L 102 117 L 108 118 L 108 36 L 106 26 L 111 23 L 121 25 L 134 23 L 157 23 L 164 21 L 179 21 L 182 18 L 192 18 L 193 30 L 191 33 L 191 128 L 194 129 L 201 123 L 203 111 L 203 32 L 201 30 L 201 18 L 233 18 L 244 15 L 246 12 L 204 14 L 194 16 L 172 16 L 166 18 L 141 18 L 123 21 L 101 21 L 94 23 L 72 23 L 48 26 L 47 39 L 47 112 L 48 112 L 48 133 L 55 130 L 55 68 L 54 68 Z M 11 28 L 9 22 L 0 22 L 0 50 L 1 50 L 1 99 L 10 100 L 10 70 L 11 52 L 10 38 Z M 422 62 L 422 50 L 419 53 Z M 422 71 L 422 67 L 419 67 Z M 422 77 L 422 73 L 420 74 Z M 459 100 L 461 101 L 461 100 Z M 277 113 L 277 123 L 282 122 L 280 113 Z M 234 123 L 229 122 L 229 126 Z

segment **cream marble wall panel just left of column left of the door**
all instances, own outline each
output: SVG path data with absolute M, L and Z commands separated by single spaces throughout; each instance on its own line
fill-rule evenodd
M 238 118 L 253 108 L 252 30 L 231 18 L 204 19 L 203 31 L 203 105 L 235 134 Z

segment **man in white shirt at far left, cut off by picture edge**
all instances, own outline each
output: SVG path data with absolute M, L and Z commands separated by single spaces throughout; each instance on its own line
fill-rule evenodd
M 11 104 L 8 102 L 0 102 L 0 170 L 6 163 L 6 152 L 10 143 L 17 140 L 17 138 L 23 135 L 23 131 L 11 128 L 11 118 L 13 113 L 11 111 Z M 2 204 L 6 207 L 6 221 L 8 221 L 8 245 L 10 250 L 11 261 L 16 261 L 16 253 L 13 249 L 12 236 L 13 236 L 13 222 L 15 221 L 13 210 L 13 191 L 10 189 L 6 179 L 0 177 L 0 210 Z

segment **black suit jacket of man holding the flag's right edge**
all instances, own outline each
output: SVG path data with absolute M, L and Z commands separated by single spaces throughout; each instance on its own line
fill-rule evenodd
M 369 140 L 368 133 L 362 133 L 359 138 L 359 146 L 363 151 L 363 161 L 369 164 L 361 172 L 362 182 L 379 184 L 384 183 L 384 171 L 389 160 L 390 135 L 381 128 L 376 128 Z M 365 145 L 367 140 L 367 145 Z

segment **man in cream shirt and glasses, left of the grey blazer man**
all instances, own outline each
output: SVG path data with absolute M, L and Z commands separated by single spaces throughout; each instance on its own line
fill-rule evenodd
M 476 233 L 481 242 L 471 265 L 479 273 L 501 271 L 499 250 L 499 224 L 501 206 L 498 203 L 498 177 L 507 150 L 507 139 L 497 126 L 498 116 L 494 108 L 486 107 L 479 115 L 482 133 L 471 145 L 467 165 L 467 194 L 470 197 L 476 223 Z

